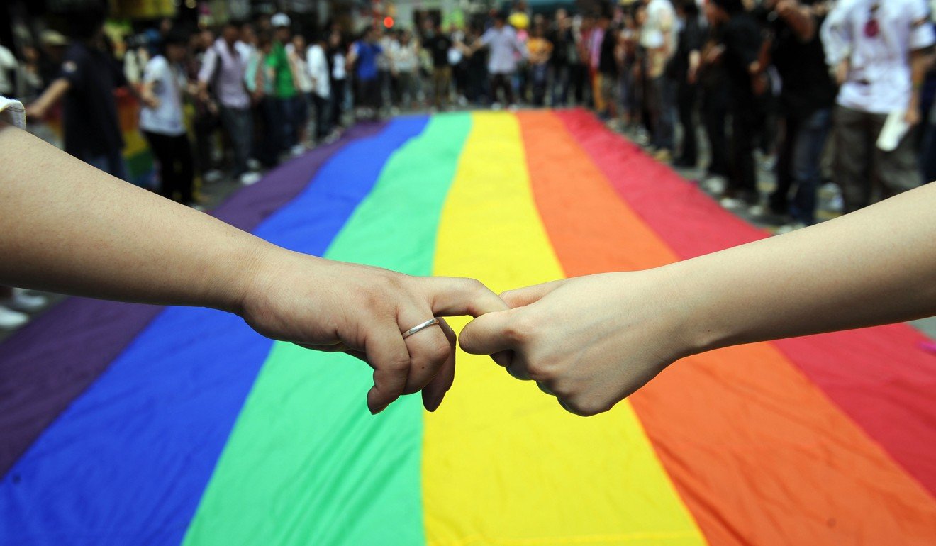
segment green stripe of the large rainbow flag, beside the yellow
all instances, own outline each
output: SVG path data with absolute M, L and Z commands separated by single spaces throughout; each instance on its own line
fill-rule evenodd
M 469 114 L 435 116 L 392 155 L 326 257 L 429 275 Z M 425 543 L 418 394 L 373 417 L 371 369 L 277 343 L 185 536 L 218 544 Z

